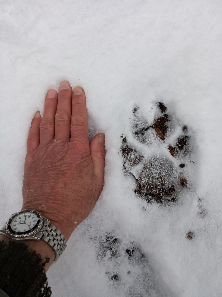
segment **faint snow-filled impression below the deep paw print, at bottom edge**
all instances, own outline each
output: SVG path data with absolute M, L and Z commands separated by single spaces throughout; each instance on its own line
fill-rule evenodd
M 127 297 L 153 296 L 154 292 L 154 296 L 162 296 L 148 259 L 136 242 L 123 243 L 114 231 L 100 234 L 96 242 L 98 261 L 106 265 L 110 287 Z

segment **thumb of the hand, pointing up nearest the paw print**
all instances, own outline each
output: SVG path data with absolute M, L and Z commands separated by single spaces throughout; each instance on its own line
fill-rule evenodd
M 105 134 L 99 133 L 90 141 L 90 155 L 92 164 L 97 178 L 98 196 L 103 189 L 104 167 L 105 167 Z

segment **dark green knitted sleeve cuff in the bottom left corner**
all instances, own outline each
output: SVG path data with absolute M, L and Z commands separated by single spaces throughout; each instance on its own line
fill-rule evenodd
M 9 297 L 49 297 L 45 263 L 25 243 L 0 241 L 0 288 Z

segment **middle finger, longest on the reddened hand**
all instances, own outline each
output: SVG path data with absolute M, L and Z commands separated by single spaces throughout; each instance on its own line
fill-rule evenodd
M 70 119 L 72 88 L 68 81 L 62 81 L 59 87 L 58 104 L 55 114 L 55 139 L 70 139 Z

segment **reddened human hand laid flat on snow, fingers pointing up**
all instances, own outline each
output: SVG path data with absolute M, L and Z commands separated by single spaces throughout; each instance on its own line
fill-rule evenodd
M 103 189 L 104 140 L 99 133 L 89 143 L 82 88 L 63 81 L 58 94 L 49 90 L 28 135 L 22 210 L 36 209 L 68 240 Z

